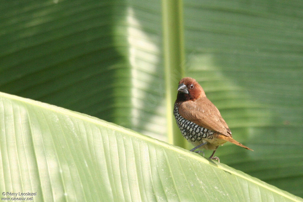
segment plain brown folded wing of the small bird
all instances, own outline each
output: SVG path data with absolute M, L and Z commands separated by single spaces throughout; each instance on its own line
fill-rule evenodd
M 231 131 L 221 117 L 219 110 L 206 97 L 182 102 L 179 105 L 179 114 L 199 126 L 231 137 Z

